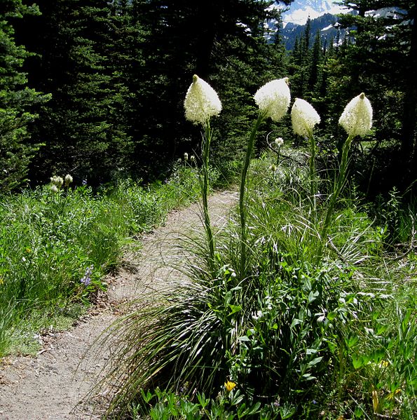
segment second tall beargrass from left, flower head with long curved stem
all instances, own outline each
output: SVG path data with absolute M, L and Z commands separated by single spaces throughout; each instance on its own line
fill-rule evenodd
M 268 117 L 273 121 L 278 122 L 287 114 L 289 102 L 291 101 L 291 94 L 288 87 L 289 79 L 276 79 L 266 83 L 257 90 L 254 95 L 255 103 L 259 107 L 259 115 L 255 121 L 252 131 L 249 135 L 249 142 L 247 143 L 245 161 L 242 166 L 242 175 L 240 177 L 239 190 L 239 212 L 240 212 L 240 274 L 242 278 L 245 275 L 246 267 L 246 248 L 247 248 L 247 229 L 246 229 L 246 209 L 245 209 L 245 188 L 247 170 L 249 168 L 252 150 L 254 148 L 254 141 L 257 137 L 257 131 L 261 123 Z

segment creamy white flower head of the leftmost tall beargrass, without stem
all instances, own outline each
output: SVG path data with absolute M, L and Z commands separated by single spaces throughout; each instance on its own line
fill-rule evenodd
M 185 118 L 194 124 L 204 125 L 221 111 L 216 91 L 196 74 L 193 76 L 184 100 Z

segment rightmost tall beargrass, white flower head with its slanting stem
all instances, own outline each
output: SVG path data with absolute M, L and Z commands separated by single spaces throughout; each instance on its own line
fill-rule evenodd
M 369 99 L 364 93 L 361 93 L 346 105 L 339 118 L 339 124 L 346 130 L 346 133 L 348 133 L 348 138 L 346 139 L 346 142 L 343 143 L 339 174 L 334 182 L 334 191 L 330 197 L 326 219 L 324 219 L 323 238 L 327 236 L 327 229 L 329 229 L 330 219 L 334 211 L 334 206 L 336 205 L 336 200 L 339 198 L 339 194 L 346 181 L 350 145 L 357 135 L 364 137 L 369 134 L 372 128 L 372 114 L 371 102 L 369 102 Z

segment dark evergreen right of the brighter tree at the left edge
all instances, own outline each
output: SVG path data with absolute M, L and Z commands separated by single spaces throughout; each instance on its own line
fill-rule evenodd
M 25 20 L 25 44 L 37 55 L 29 81 L 52 100 L 34 138 L 45 143 L 32 168 L 40 179 L 71 173 L 97 184 L 123 170 L 130 153 L 121 72 L 111 62 L 120 39 L 105 0 L 39 0 L 42 15 Z

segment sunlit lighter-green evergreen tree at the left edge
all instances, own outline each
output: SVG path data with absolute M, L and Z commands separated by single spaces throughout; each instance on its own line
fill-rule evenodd
M 29 57 L 15 42 L 15 21 L 22 15 L 36 15 L 35 6 L 21 0 L 0 4 L 0 191 L 9 191 L 25 180 L 28 165 L 39 144 L 29 142 L 34 109 L 48 97 L 27 86 L 22 65 Z

